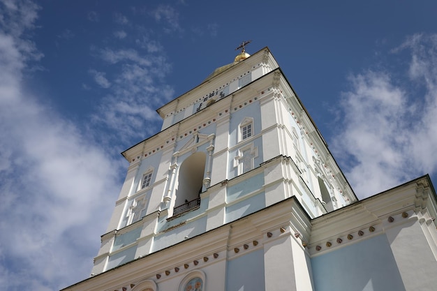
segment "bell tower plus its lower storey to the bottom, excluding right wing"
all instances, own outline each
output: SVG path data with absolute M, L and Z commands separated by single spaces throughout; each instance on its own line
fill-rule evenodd
M 279 277 L 312 290 L 310 221 L 357 198 L 269 48 L 249 43 L 122 153 L 87 290 L 267 290 Z

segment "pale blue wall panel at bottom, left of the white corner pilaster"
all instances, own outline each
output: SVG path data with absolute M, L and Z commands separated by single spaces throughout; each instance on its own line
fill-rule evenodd
M 229 260 L 226 276 L 227 291 L 265 291 L 264 250 Z

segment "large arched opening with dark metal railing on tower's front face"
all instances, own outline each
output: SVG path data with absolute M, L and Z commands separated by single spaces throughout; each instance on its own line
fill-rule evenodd
M 202 192 L 203 176 L 207 155 L 198 151 L 192 154 L 179 168 L 178 186 L 176 191 L 175 209 L 193 200 L 197 200 Z M 194 203 L 195 204 L 195 203 Z M 195 204 L 197 206 L 198 204 Z M 187 205 L 189 206 L 189 205 Z M 191 209 L 192 207 L 188 207 Z M 183 211 L 186 211 L 184 209 Z M 176 214 L 173 213 L 175 216 Z

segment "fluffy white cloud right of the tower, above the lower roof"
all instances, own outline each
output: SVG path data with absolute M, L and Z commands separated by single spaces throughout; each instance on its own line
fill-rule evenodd
M 393 52 L 409 54 L 408 82 L 367 70 L 342 96 L 332 144 L 359 197 L 437 170 L 437 36 L 416 34 Z

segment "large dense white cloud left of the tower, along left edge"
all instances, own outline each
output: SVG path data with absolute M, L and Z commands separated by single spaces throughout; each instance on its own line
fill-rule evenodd
M 28 61 L 41 56 L 22 39 L 37 6 L 0 5 L 8 15 L 0 29 L 0 283 L 59 290 L 89 275 L 96 233 L 105 232 L 119 190 L 119 161 L 24 88 Z

